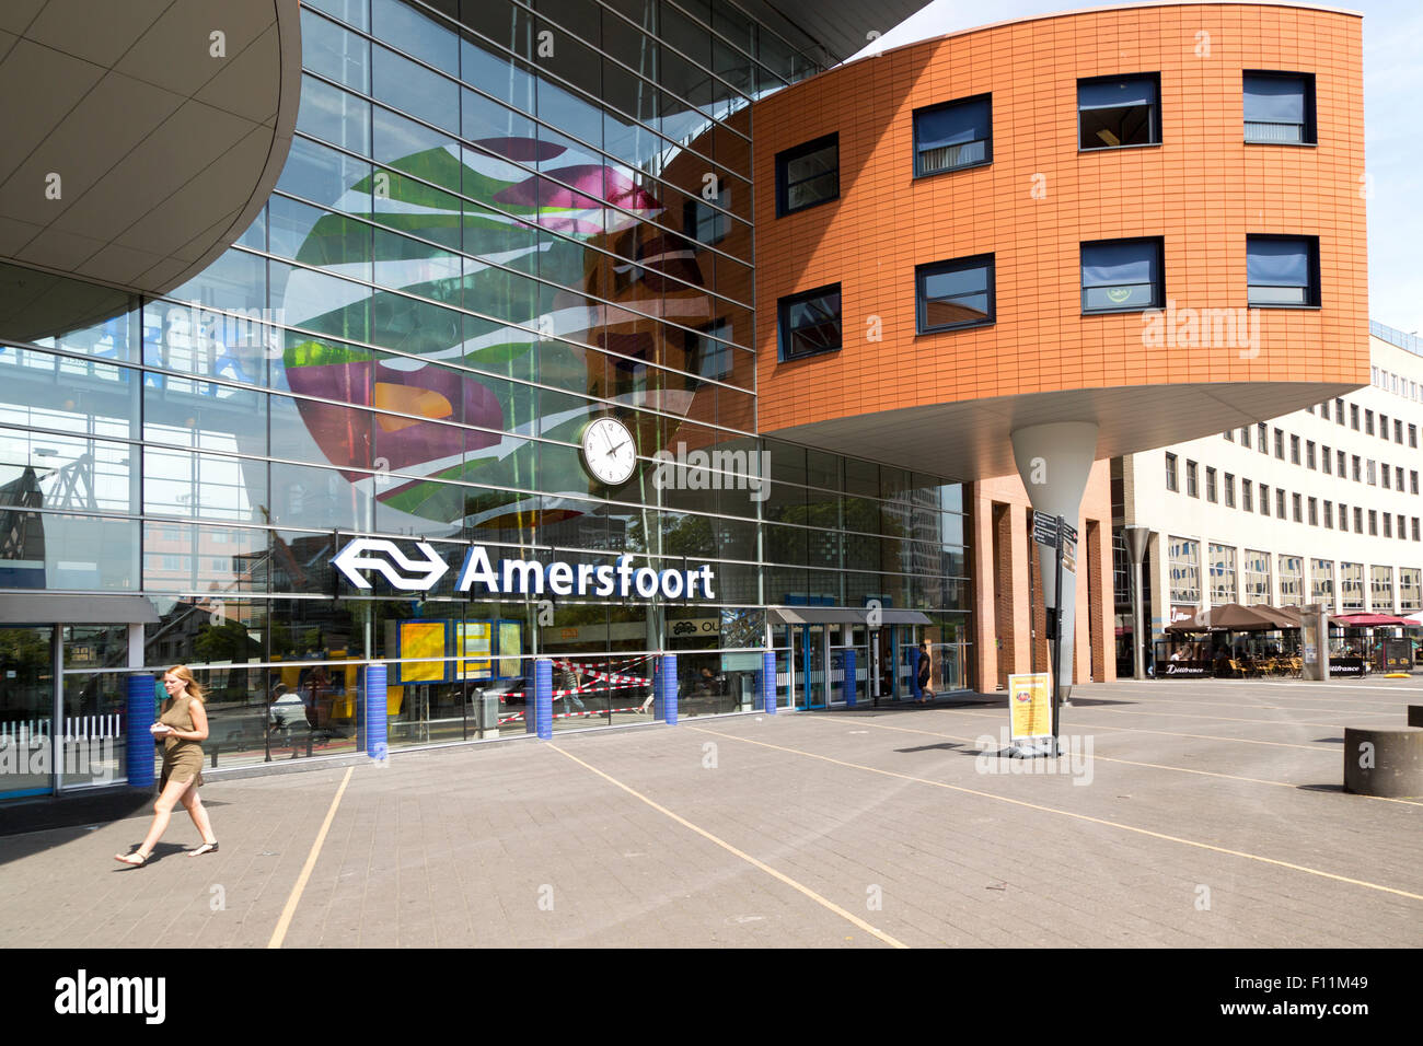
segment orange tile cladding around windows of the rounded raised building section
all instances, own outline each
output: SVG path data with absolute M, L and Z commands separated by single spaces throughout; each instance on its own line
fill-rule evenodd
M 1318 147 L 1244 144 L 1247 68 L 1315 74 Z M 1160 73 L 1163 144 L 1079 152 L 1077 80 L 1131 73 Z M 758 102 L 760 430 L 1083 387 L 1368 381 L 1362 77 L 1358 16 L 1168 4 L 941 37 Z M 993 162 L 914 179 L 912 111 L 989 93 Z M 840 199 L 774 218 L 776 154 L 835 131 Z M 1247 233 L 1318 236 L 1321 255 L 1322 307 L 1261 310 L 1254 359 L 1146 350 L 1140 313 L 1081 316 L 1080 242 L 1163 236 L 1167 297 L 1241 307 Z M 996 256 L 996 323 L 915 336 L 915 265 L 980 253 Z M 777 363 L 776 300 L 835 282 L 844 349 Z

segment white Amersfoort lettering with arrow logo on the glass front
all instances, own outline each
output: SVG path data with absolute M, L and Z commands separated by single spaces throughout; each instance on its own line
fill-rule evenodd
M 346 575 L 356 588 L 369 589 L 361 571 L 380 574 L 393 588 L 406 592 L 428 592 L 450 569 L 448 564 L 425 541 L 416 548 L 424 559 L 413 559 L 384 538 L 356 538 L 332 556 L 332 566 Z M 632 556 L 620 555 L 616 564 L 565 564 L 555 559 L 501 559 L 495 565 L 484 545 L 471 545 L 464 555 L 457 592 L 468 592 L 474 585 L 490 595 L 521 593 L 556 596 L 618 596 L 619 599 L 714 599 L 716 581 L 709 564 L 679 571 L 659 571 L 655 566 L 633 566 Z M 700 591 L 699 591 L 700 588 Z

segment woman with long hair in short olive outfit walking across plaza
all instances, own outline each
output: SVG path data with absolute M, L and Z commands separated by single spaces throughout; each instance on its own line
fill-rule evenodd
M 198 798 L 198 788 L 202 786 L 202 743 L 208 739 L 208 712 L 203 707 L 206 697 L 186 665 L 174 665 L 164 673 L 164 690 L 168 692 L 168 700 L 151 727 L 154 737 L 164 743 L 164 774 L 158 786 L 158 801 L 154 803 L 154 824 L 138 850 L 114 855 L 120 864 L 134 868 L 141 868 L 152 855 L 179 803 L 202 835 L 202 845 L 188 851 L 188 857 L 218 851 L 218 837 L 212 834 L 208 811 Z

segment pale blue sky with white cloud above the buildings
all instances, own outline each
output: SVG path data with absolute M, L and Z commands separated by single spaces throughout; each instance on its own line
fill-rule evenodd
M 936 0 L 885 30 L 874 48 L 896 47 L 958 28 L 1027 14 L 1081 10 L 1064 0 Z M 1369 199 L 1369 316 L 1409 333 L 1423 333 L 1423 4 L 1417 0 L 1360 0 L 1339 4 L 1363 14 L 1363 134 Z

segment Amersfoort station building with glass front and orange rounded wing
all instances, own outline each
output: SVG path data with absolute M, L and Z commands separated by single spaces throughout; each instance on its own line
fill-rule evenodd
M 848 649 L 901 697 L 921 639 L 992 690 L 1046 667 L 1029 507 L 1110 679 L 1107 460 L 1368 381 L 1360 20 L 840 64 L 916 6 L 7 6 L 0 83 L 68 91 L 0 171 L 7 736 L 122 744 L 176 662 L 219 770 L 353 751 L 374 662 L 393 744 L 522 731 L 534 657 L 565 727 L 665 653 L 683 714 L 841 700 Z

